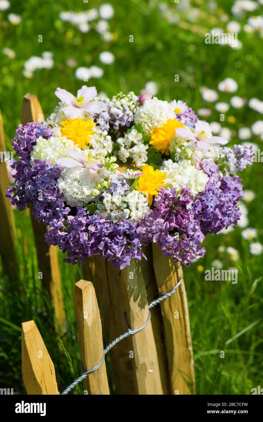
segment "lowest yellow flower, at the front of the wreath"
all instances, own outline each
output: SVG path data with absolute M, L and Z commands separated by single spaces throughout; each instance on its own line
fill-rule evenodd
M 152 205 L 153 195 L 157 195 L 166 175 L 160 170 L 153 170 L 153 167 L 148 164 L 142 166 L 142 171 L 143 175 L 140 177 L 136 189 L 144 192 L 148 196 L 148 203 Z

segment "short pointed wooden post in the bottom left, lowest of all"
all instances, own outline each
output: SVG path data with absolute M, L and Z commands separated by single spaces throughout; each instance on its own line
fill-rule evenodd
M 27 394 L 57 395 L 53 362 L 34 321 L 22 323 L 22 377 Z

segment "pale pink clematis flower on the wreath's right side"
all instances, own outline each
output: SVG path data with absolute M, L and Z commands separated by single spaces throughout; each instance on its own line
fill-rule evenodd
M 228 141 L 220 136 L 213 136 L 209 123 L 198 120 L 196 122 L 195 132 L 191 132 L 185 127 L 178 127 L 176 135 L 181 138 L 187 138 L 191 141 L 196 141 L 197 146 L 201 149 L 209 149 L 209 143 L 221 143 L 225 145 Z

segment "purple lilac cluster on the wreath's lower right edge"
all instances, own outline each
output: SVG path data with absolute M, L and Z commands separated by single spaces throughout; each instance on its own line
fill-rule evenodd
M 242 180 L 238 176 L 221 177 L 214 162 L 207 162 L 202 169 L 210 179 L 204 192 L 193 203 L 193 208 L 202 233 L 218 234 L 231 224 L 237 225 L 240 219 L 238 204 L 243 197 Z

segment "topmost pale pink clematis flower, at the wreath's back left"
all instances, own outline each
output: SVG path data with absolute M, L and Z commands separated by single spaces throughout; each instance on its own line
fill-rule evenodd
M 57 88 L 55 95 L 59 100 L 67 104 L 67 107 L 64 108 L 64 114 L 68 119 L 78 119 L 82 116 L 83 111 L 101 113 L 107 108 L 103 101 L 91 101 L 97 95 L 97 89 L 95 87 L 86 87 L 83 85 L 78 90 L 77 97 L 74 97 L 74 95 L 65 89 Z

